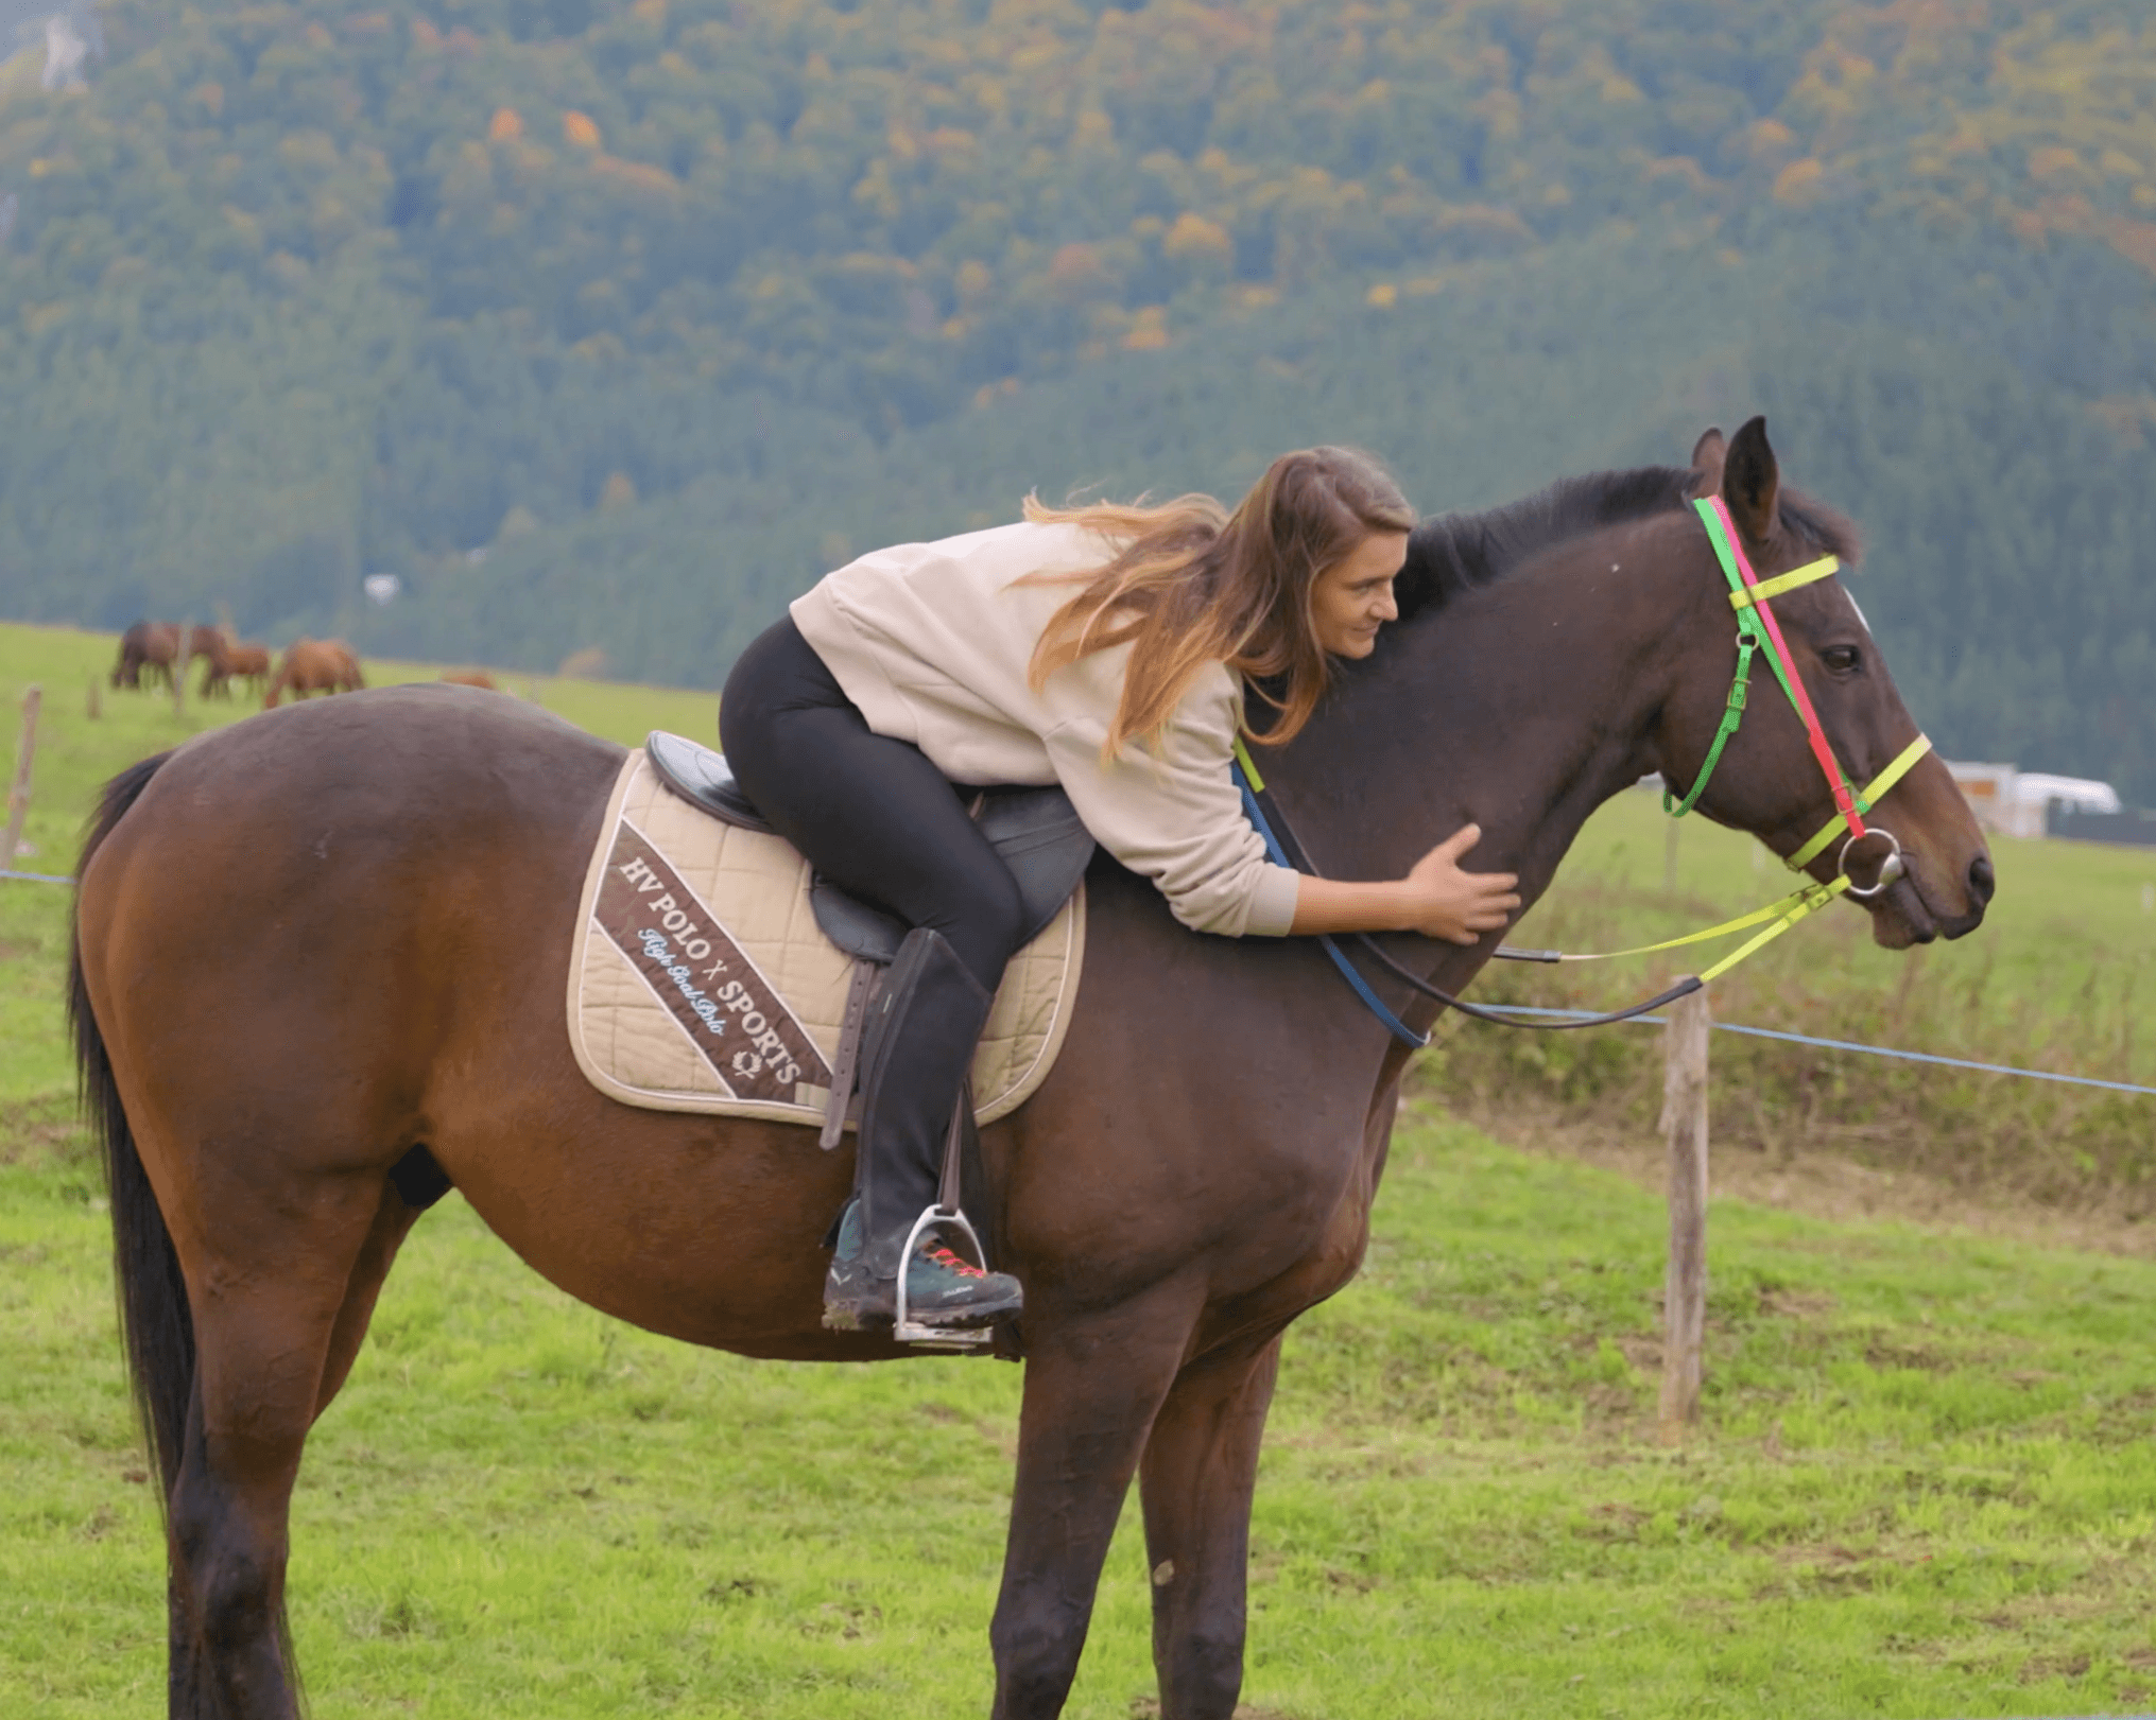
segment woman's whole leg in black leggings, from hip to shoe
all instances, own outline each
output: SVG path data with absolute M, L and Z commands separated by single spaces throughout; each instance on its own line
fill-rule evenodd
M 914 927 L 877 991 L 860 1058 L 854 1196 L 824 1285 L 824 1321 L 888 1323 L 897 1278 L 927 1323 L 1015 1315 L 1018 1280 L 946 1248 L 910 1259 L 936 1201 L 944 1134 L 996 983 L 1024 933 L 1018 884 L 918 748 L 869 731 L 791 621 L 727 679 L 727 759 L 772 826 L 832 882 Z

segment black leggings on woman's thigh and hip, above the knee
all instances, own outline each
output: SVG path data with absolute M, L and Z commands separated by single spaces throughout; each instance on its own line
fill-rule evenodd
M 791 616 L 733 666 L 720 731 L 742 789 L 808 864 L 940 931 L 996 989 L 1026 929 L 1011 869 L 918 746 L 869 729 Z

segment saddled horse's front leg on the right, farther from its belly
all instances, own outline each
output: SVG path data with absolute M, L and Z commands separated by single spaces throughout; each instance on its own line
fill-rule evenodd
M 1281 1336 L 1201 1356 L 1145 1444 L 1138 1494 L 1153 1571 L 1160 1720 L 1229 1720 L 1242 1694 L 1250 1494 Z

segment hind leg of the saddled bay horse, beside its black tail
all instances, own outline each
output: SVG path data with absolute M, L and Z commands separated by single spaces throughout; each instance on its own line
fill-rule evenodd
M 287 1513 L 379 1198 L 379 1179 L 364 1177 L 310 1177 L 304 1188 L 218 1179 L 216 1224 L 181 1246 L 196 1373 L 170 1496 L 175 1718 L 298 1711 L 285 1636 Z

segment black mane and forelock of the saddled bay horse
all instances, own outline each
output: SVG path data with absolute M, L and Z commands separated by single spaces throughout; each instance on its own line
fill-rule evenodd
M 1496 584 L 1546 550 L 1604 526 L 1673 513 L 1692 498 L 1699 472 L 1682 466 L 1639 466 L 1630 472 L 1589 472 L 1559 478 L 1518 502 L 1483 513 L 1440 513 L 1408 537 L 1408 563 L 1395 597 L 1401 619 L 1438 610 L 1462 593 Z M 1783 530 L 1820 554 L 1854 565 L 1863 556 L 1856 528 L 1833 509 L 1781 491 Z

